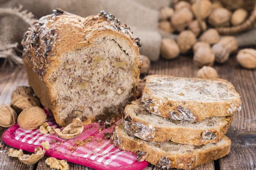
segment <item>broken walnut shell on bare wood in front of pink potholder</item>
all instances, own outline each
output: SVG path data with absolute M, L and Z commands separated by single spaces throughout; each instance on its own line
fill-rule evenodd
M 35 148 L 35 153 L 32 155 L 19 155 L 18 159 L 23 163 L 23 164 L 35 164 L 37 163 L 41 158 L 44 157 L 45 150 L 42 150 L 41 147 L 36 147 Z

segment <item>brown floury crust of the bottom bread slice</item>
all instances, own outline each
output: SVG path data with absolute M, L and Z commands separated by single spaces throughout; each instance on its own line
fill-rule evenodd
M 219 159 L 230 152 L 231 141 L 227 136 L 224 136 L 222 139 L 226 142 L 221 146 L 212 144 L 211 147 L 186 150 L 182 154 L 170 154 L 164 150 L 156 150 L 152 148 L 151 145 L 155 142 L 146 142 L 136 137 L 131 140 L 126 136 L 123 136 L 122 133 L 120 133 L 121 128 L 122 123 L 116 126 L 115 131 L 111 136 L 114 144 L 122 150 L 137 153 L 139 160 L 143 161 L 145 159 L 145 161 L 148 161 L 157 167 L 190 170 L 195 168 L 197 165 Z M 139 153 L 144 153 L 143 160 L 140 159 L 141 154 Z

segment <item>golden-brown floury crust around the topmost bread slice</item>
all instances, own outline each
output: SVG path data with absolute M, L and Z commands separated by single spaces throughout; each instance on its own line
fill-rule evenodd
M 217 80 L 227 83 L 230 91 L 233 91 L 238 97 L 233 100 L 227 101 L 212 101 L 212 102 L 199 102 L 199 101 L 186 101 L 186 100 L 165 100 L 154 96 L 154 92 L 151 92 L 148 88 L 152 77 L 164 77 L 180 79 L 182 77 L 173 77 L 167 75 L 151 75 L 146 79 L 145 87 L 142 94 L 142 100 L 144 107 L 150 112 L 158 116 L 162 116 L 168 119 L 173 119 L 171 113 L 179 110 L 178 107 L 186 110 L 189 115 L 190 122 L 201 122 L 208 117 L 216 116 L 232 116 L 234 113 L 241 111 L 241 99 L 240 95 L 236 92 L 234 86 L 225 79 L 199 79 L 199 78 L 187 78 L 195 80 L 212 81 Z M 153 97 L 154 96 L 154 97 Z M 175 120 L 175 119 L 173 119 Z

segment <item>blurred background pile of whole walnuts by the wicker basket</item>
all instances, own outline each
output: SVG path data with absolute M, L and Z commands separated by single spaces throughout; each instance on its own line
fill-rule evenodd
M 215 28 L 239 25 L 247 19 L 248 12 L 242 8 L 230 11 L 224 8 L 218 0 L 213 2 L 201 0 L 200 10 L 198 10 L 197 4 L 195 1 L 193 2 L 181 0 L 174 4 L 174 8 L 164 7 L 160 9 L 159 28 L 168 33 L 179 34 L 177 41 L 162 40 L 161 56 L 165 59 L 174 59 L 180 53 L 193 52 L 193 60 L 201 68 L 198 71 L 198 76 L 217 78 L 218 74 L 214 68 L 203 66 L 212 66 L 214 62 L 226 62 L 230 54 L 237 51 L 238 42 L 232 36 L 220 38 Z M 198 18 L 197 14 L 200 14 L 202 19 L 202 27 L 199 26 L 196 19 Z M 239 51 L 237 61 L 244 68 L 256 68 L 256 50 L 243 49 Z

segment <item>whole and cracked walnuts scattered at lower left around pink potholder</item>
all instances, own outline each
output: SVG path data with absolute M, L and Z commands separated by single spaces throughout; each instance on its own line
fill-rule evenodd
M 47 115 L 40 108 L 41 103 L 34 95 L 32 88 L 20 86 L 13 91 L 11 96 L 11 104 L 0 104 L 0 126 L 11 127 L 16 123 L 23 129 L 32 130 L 38 129 L 41 133 L 58 135 L 62 139 L 74 139 L 79 136 L 84 130 L 84 125 L 90 124 L 91 120 L 81 122 L 79 118 L 73 119 L 70 125 L 64 127 L 63 130 L 52 128 L 46 122 Z M 113 121 L 112 121 L 113 122 Z M 44 157 L 45 150 L 50 149 L 48 141 L 41 143 L 41 147 L 35 148 L 35 153 L 26 155 L 22 150 L 10 149 L 8 156 L 17 157 L 23 164 L 35 164 Z M 50 168 L 68 170 L 67 161 L 58 160 L 55 158 L 47 158 L 46 163 Z

